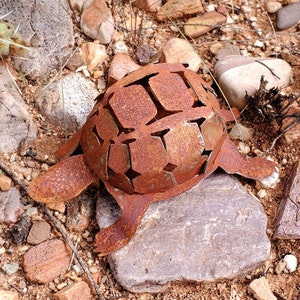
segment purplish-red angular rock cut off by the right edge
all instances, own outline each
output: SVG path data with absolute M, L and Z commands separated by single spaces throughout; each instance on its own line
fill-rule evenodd
M 300 161 L 294 165 L 285 186 L 285 196 L 278 209 L 274 238 L 300 239 Z

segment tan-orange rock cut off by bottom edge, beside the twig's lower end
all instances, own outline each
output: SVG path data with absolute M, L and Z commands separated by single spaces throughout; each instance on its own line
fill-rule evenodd
M 89 300 L 92 299 L 91 290 L 84 281 L 75 282 L 56 293 L 55 300 Z

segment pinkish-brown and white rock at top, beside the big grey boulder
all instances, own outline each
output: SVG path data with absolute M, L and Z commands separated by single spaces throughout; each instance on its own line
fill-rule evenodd
M 114 33 L 114 19 L 104 0 L 86 0 L 80 27 L 88 37 L 109 44 Z

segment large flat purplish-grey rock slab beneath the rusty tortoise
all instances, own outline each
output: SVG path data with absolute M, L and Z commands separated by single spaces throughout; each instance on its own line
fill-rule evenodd
M 100 228 L 119 215 L 108 199 L 98 200 Z M 262 205 L 237 179 L 213 174 L 152 204 L 133 239 L 108 259 L 118 282 L 131 292 L 159 292 L 172 281 L 233 278 L 268 259 L 266 225 Z

